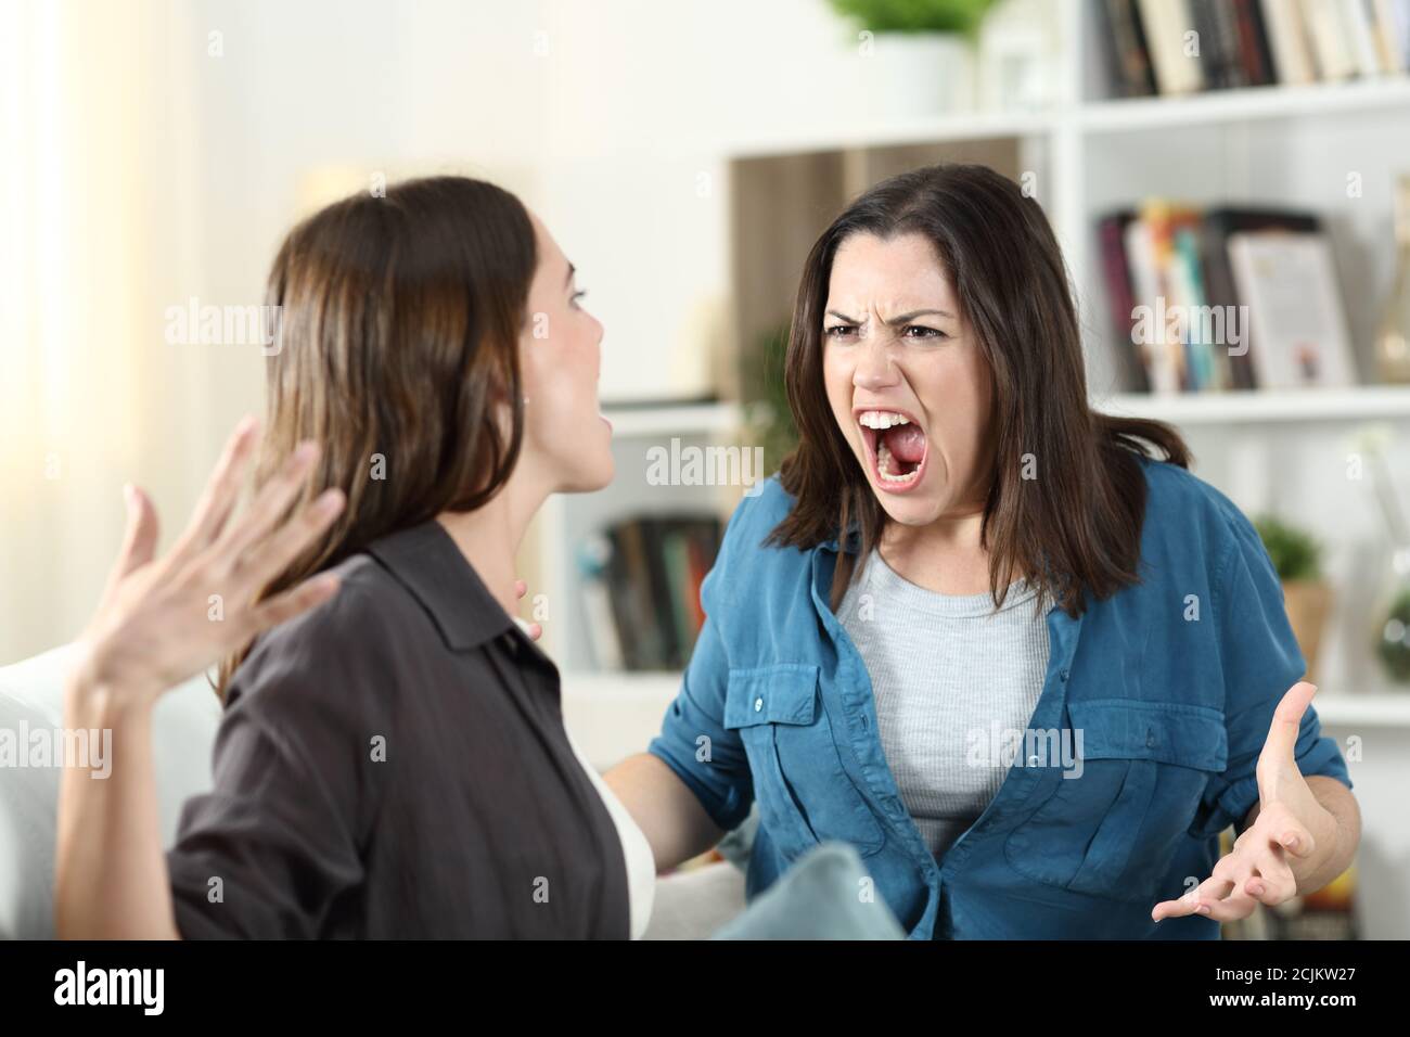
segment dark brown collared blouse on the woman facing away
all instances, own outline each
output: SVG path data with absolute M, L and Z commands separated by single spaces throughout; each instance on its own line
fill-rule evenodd
M 183 937 L 626 938 L 558 670 L 437 522 L 257 641 L 168 851 Z

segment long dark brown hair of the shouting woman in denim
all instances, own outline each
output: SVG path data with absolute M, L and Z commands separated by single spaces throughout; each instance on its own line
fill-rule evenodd
M 933 165 L 893 176 L 857 198 L 808 254 L 794 308 L 784 384 L 798 447 L 780 480 L 795 497 L 768 542 L 814 547 L 856 529 L 867 557 L 885 522 L 828 405 L 822 317 L 838 247 L 852 234 L 922 234 L 952 279 L 960 309 L 993 372 L 994 478 L 980 543 L 990 594 L 1003 605 L 1014 573 L 1038 601 L 1072 617 L 1138 583 L 1145 477 L 1141 440 L 1187 468 L 1190 451 L 1163 422 L 1112 418 L 1087 405 L 1081 337 L 1062 250 L 1038 202 L 983 165 Z M 1025 457 L 1031 456 L 1031 459 Z M 1024 478 L 1036 463 L 1036 477 Z M 839 553 L 832 607 L 854 570 Z

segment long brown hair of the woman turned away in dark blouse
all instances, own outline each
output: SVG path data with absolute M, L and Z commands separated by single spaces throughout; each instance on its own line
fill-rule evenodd
M 536 264 L 519 199 L 462 176 L 354 195 L 289 233 L 269 272 L 279 337 L 255 485 L 314 439 L 296 507 L 329 487 L 347 507 L 262 597 L 503 487 L 523 439 L 517 339 Z M 221 698 L 248 650 L 221 665 Z

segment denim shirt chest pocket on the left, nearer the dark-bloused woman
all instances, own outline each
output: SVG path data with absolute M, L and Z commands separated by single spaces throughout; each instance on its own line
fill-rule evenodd
M 812 663 L 732 669 L 723 725 L 744 744 L 760 823 L 784 856 L 826 839 L 870 856 L 885 832 L 842 765 L 818 680 Z

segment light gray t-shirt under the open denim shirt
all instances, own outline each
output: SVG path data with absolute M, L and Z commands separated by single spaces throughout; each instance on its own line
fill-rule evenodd
M 936 859 L 998 793 L 1042 694 L 1048 622 L 1035 595 L 1015 580 L 995 612 L 988 591 L 938 594 L 873 550 L 838 610 L 871 676 L 901 801 Z

